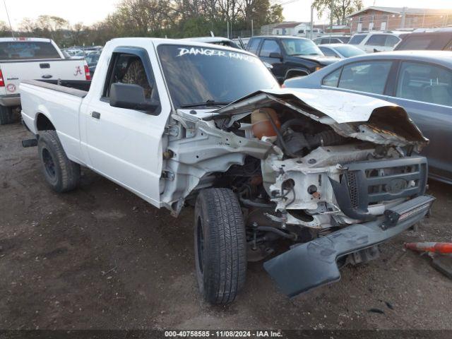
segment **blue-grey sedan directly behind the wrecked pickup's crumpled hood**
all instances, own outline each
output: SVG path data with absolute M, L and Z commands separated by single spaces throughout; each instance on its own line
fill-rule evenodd
M 427 138 L 429 176 L 452 184 L 452 52 L 387 52 L 344 59 L 288 88 L 361 93 L 404 107 Z

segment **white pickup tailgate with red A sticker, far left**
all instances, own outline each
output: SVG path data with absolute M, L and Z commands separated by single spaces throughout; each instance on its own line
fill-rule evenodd
M 19 93 L 19 83 L 25 80 L 86 80 L 85 61 L 71 59 L 36 61 L 0 61 L 6 95 Z

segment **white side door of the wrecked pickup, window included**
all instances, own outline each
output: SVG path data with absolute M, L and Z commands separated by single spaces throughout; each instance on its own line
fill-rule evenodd
M 100 74 L 98 74 L 100 76 Z M 105 73 L 104 73 L 105 76 Z M 155 112 L 109 105 L 112 83 L 140 85 L 146 100 L 158 103 Z M 162 135 L 169 105 L 162 109 L 148 52 L 142 48 L 114 49 L 105 76 L 102 97 L 93 97 L 84 109 L 90 167 L 160 207 Z

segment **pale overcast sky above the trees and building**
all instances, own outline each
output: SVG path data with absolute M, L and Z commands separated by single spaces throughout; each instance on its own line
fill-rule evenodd
M 102 20 L 108 13 L 114 11 L 119 0 L 0 0 L 0 20 L 7 23 L 6 11 L 3 1 L 8 6 L 11 24 L 18 28 L 23 18 L 36 18 L 42 14 L 59 16 L 71 23 L 85 23 L 90 25 Z M 272 2 L 284 4 L 288 0 L 272 0 Z M 312 0 L 295 0 L 291 4 L 285 4 L 285 20 L 309 21 L 310 6 Z M 414 8 L 451 8 L 452 0 L 364 0 L 367 6 L 391 6 Z M 316 13 L 314 13 L 316 20 Z M 316 20 L 319 22 L 319 20 Z

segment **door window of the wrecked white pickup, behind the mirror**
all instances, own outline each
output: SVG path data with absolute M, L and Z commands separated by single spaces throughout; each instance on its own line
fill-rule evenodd
M 152 74 L 152 72 L 151 72 Z M 112 66 L 107 73 L 104 97 L 109 97 L 113 83 L 130 83 L 144 89 L 145 98 L 158 100 L 154 79 L 148 79 L 143 61 L 135 54 L 113 53 Z

